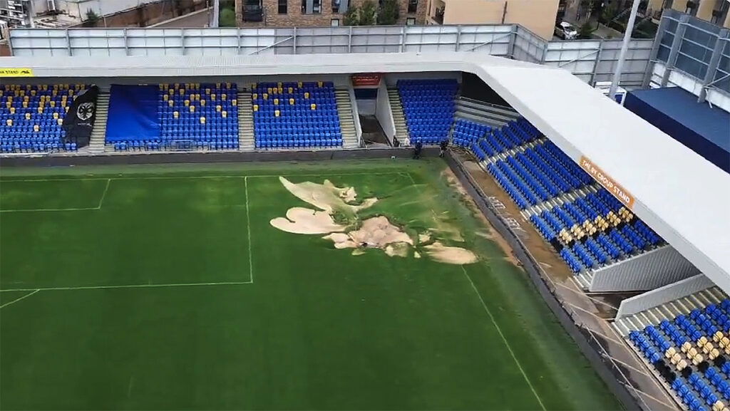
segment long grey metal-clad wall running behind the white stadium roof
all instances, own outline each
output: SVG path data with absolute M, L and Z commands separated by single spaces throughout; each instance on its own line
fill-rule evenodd
M 11 31 L 10 42 L 13 55 L 34 58 L 185 55 L 207 60 L 216 56 L 456 51 L 558 66 L 590 83 L 610 80 L 621 48 L 621 39 L 546 42 L 526 28 L 512 24 L 296 29 L 16 29 Z M 621 85 L 636 87 L 641 84 L 649 70 L 652 44 L 651 39 L 631 41 Z

